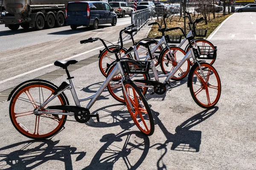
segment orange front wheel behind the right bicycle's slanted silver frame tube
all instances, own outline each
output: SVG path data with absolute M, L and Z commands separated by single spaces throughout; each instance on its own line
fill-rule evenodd
M 177 62 L 169 59 L 169 57 L 167 55 L 169 53 L 169 48 Z M 165 48 L 160 55 L 160 67 L 163 71 L 163 74 L 169 74 L 170 72 L 172 72 L 172 70 L 177 66 L 177 64 L 186 55 L 186 52 L 179 47 L 171 46 L 169 48 Z M 172 67 L 170 71 L 167 70 L 167 69 L 169 69 L 169 65 L 171 65 L 171 67 Z M 175 81 L 184 79 L 187 76 L 187 74 L 189 74 L 189 68 L 190 68 L 190 64 L 189 64 L 189 59 L 188 59 L 186 62 L 184 62 L 184 64 L 180 67 L 179 71 L 177 71 L 171 79 L 175 80 Z

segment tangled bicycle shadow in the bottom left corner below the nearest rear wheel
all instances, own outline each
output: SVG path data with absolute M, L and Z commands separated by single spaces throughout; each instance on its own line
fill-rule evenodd
M 72 170 L 71 155 L 76 155 L 76 161 L 80 161 L 86 152 L 76 152 L 76 147 L 57 146 L 59 141 L 29 140 L 18 142 L 0 148 L 0 169 L 31 170 L 57 160 L 64 162 L 65 170 Z M 7 153 L 7 154 L 6 154 Z M 58 165 L 57 165 L 58 166 Z M 59 167 L 55 168 L 59 168 Z

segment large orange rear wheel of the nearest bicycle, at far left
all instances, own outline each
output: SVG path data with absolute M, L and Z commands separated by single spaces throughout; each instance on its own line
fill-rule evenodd
M 31 139 L 47 139 L 58 133 L 67 116 L 52 114 L 35 115 L 33 111 L 53 96 L 56 88 L 44 82 L 32 82 L 20 88 L 12 97 L 9 115 L 12 124 L 22 135 Z M 62 94 L 55 97 L 40 111 L 50 105 L 67 105 Z M 63 111 L 65 112 L 65 111 Z

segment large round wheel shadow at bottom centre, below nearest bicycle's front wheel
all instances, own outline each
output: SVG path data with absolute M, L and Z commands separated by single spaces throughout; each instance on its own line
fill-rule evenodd
M 124 130 L 125 131 L 125 130 Z M 149 151 L 149 138 L 140 131 L 131 131 L 102 136 L 105 144 L 83 170 L 113 170 L 115 164 L 120 169 L 136 170 L 143 163 Z

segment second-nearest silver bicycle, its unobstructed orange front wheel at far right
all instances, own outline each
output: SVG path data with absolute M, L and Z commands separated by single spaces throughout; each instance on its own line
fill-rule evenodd
M 168 28 L 166 31 L 172 31 L 176 29 L 180 29 L 183 33 L 183 35 L 186 37 L 187 40 L 189 40 L 189 52 L 186 53 L 185 56 L 177 56 L 177 51 L 180 51 L 180 48 L 177 47 L 169 47 L 171 53 L 167 53 L 164 57 L 165 60 L 169 63 L 172 63 L 173 69 L 165 74 L 165 75 L 158 75 L 155 64 L 154 64 L 154 58 L 151 57 L 151 65 L 152 70 L 154 74 L 154 78 L 156 82 L 151 82 L 151 80 L 134 80 L 136 82 L 136 85 L 139 87 L 147 87 L 147 88 L 154 88 L 154 92 L 151 94 L 164 94 L 166 92 L 166 85 L 170 85 L 169 79 L 171 79 L 180 68 L 182 68 L 184 63 L 187 63 L 190 58 L 193 59 L 193 65 L 192 68 L 186 71 L 186 74 L 189 74 L 188 76 L 188 87 L 190 89 L 190 93 L 192 95 L 193 100 L 202 108 L 212 108 L 214 107 L 221 95 L 221 81 L 218 76 L 217 71 L 215 68 L 210 65 L 207 62 L 204 61 L 198 61 L 197 59 L 214 59 L 216 57 L 216 51 L 217 47 L 215 46 L 209 46 L 209 48 L 195 48 L 192 45 L 192 42 L 195 37 L 195 24 L 199 23 L 200 21 L 204 20 L 204 18 L 196 19 L 193 24 L 192 31 L 189 32 L 189 34 L 186 36 L 183 29 L 180 27 L 175 28 Z M 126 31 L 126 33 L 130 34 L 129 31 Z M 155 41 L 155 40 L 151 40 Z M 148 41 L 148 42 L 151 42 Z M 147 43 L 147 41 L 141 41 L 138 44 L 143 45 Z M 214 48 L 214 50 L 212 50 Z M 148 48 L 149 56 L 151 56 L 151 51 Z M 169 57 L 171 56 L 171 57 Z M 179 57 L 180 59 L 177 59 Z M 125 59 L 129 60 L 129 59 Z M 113 64 L 114 66 L 115 64 Z M 108 75 L 111 74 L 111 71 L 113 69 L 113 66 L 109 68 Z M 134 74 L 133 77 L 136 75 Z M 159 82 L 160 77 L 166 77 L 166 79 L 161 83 Z M 181 77 L 181 76 L 180 76 Z M 197 81 L 198 80 L 198 81 Z M 211 82 L 211 83 L 209 83 Z M 144 83 L 145 85 L 141 84 Z M 115 79 L 108 85 L 108 91 L 110 92 L 111 96 L 113 96 L 117 101 L 119 102 L 125 102 L 123 99 L 122 94 L 120 93 L 121 84 L 119 80 Z M 209 89 L 208 89 L 209 88 Z M 205 92 L 205 94 L 202 93 Z M 211 96 L 211 97 L 210 97 Z

